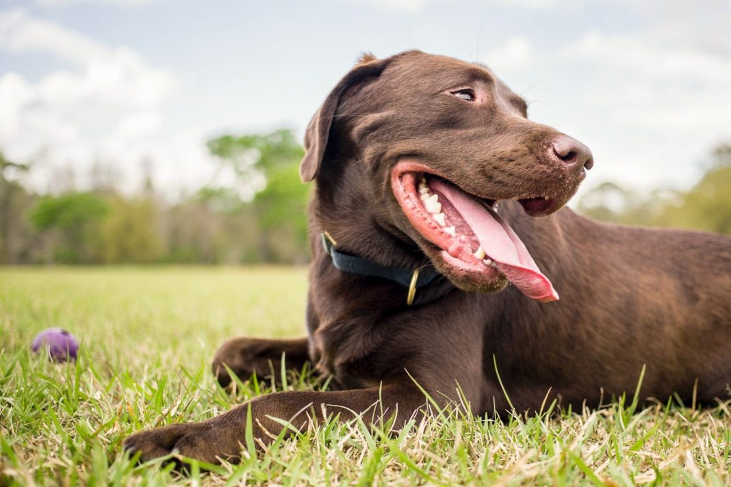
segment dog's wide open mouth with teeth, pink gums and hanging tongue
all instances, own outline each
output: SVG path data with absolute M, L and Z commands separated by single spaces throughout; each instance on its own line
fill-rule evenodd
M 406 218 L 422 237 L 436 245 L 444 264 L 478 288 L 499 289 L 505 280 L 538 301 L 556 301 L 548 277 L 497 214 L 496 200 L 462 191 L 420 164 L 401 161 L 392 172 L 393 193 Z M 554 206 L 545 198 L 520 199 L 530 214 Z

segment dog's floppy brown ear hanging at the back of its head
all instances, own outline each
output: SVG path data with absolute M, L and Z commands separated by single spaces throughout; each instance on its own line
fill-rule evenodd
M 383 72 L 387 64 L 386 60 L 376 59 L 371 53 L 363 54 L 358 60 L 355 68 L 346 74 L 333 91 L 327 95 L 325 103 L 317 110 L 315 116 L 307 126 L 305 133 L 305 157 L 300 164 L 300 177 L 303 182 L 308 183 L 314 180 L 322 164 L 322 156 L 325 155 L 327 138 L 330 135 L 330 125 L 346 91 L 363 83 L 372 77 L 377 77 Z

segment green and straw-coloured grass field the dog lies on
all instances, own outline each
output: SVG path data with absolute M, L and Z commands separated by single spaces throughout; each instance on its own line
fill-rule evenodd
M 181 475 L 137 465 L 121 440 L 148 426 L 199 421 L 271 385 L 235 394 L 209 372 L 234 334 L 303 332 L 306 269 L 0 269 L 0 486 L 127 485 L 717 485 L 731 483 L 730 404 L 601 410 L 509 421 L 444 410 L 385 435 L 326 423 L 240 464 Z M 41 329 L 79 337 L 80 358 L 29 351 Z M 510 384 L 505 385 L 510 391 Z M 293 374 L 289 389 L 317 389 Z

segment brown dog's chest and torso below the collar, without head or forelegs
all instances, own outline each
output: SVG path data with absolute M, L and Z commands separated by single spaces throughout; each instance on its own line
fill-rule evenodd
M 538 410 L 550 388 L 561 404 L 596 406 L 634 391 L 711 401 L 729 395 L 731 255 L 728 239 L 589 221 L 571 210 L 531 218 L 504 205 L 511 226 L 556 282 L 542 304 L 514 286 L 469 293 L 444 283 L 404 305 L 398 284 L 330 270 L 317 249 L 308 326 L 311 357 L 350 388 L 409 370 L 432 393 L 457 383 L 474 413 Z M 714 270 L 711 270 L 714 269 Z M 338 273 L 339 275 L 336 275 Z M 438 286 L 438 285 L 437 285 Z M 431 294 L 433 293 L 433 295 Z M 338 310 L 333 312 L 333 304 Z

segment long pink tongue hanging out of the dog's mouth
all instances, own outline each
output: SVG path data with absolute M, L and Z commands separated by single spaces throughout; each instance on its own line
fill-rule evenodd
M 429 185 L 447 196 L 474 231 L 488 257 L 493 259 L 500 272 L 523 291 L 523 294 L 538 301 L 558 300 L 558 293 L 548 277 L 538 269 L 526 245 L 496 212 L 442 181 L 432 180 Z

